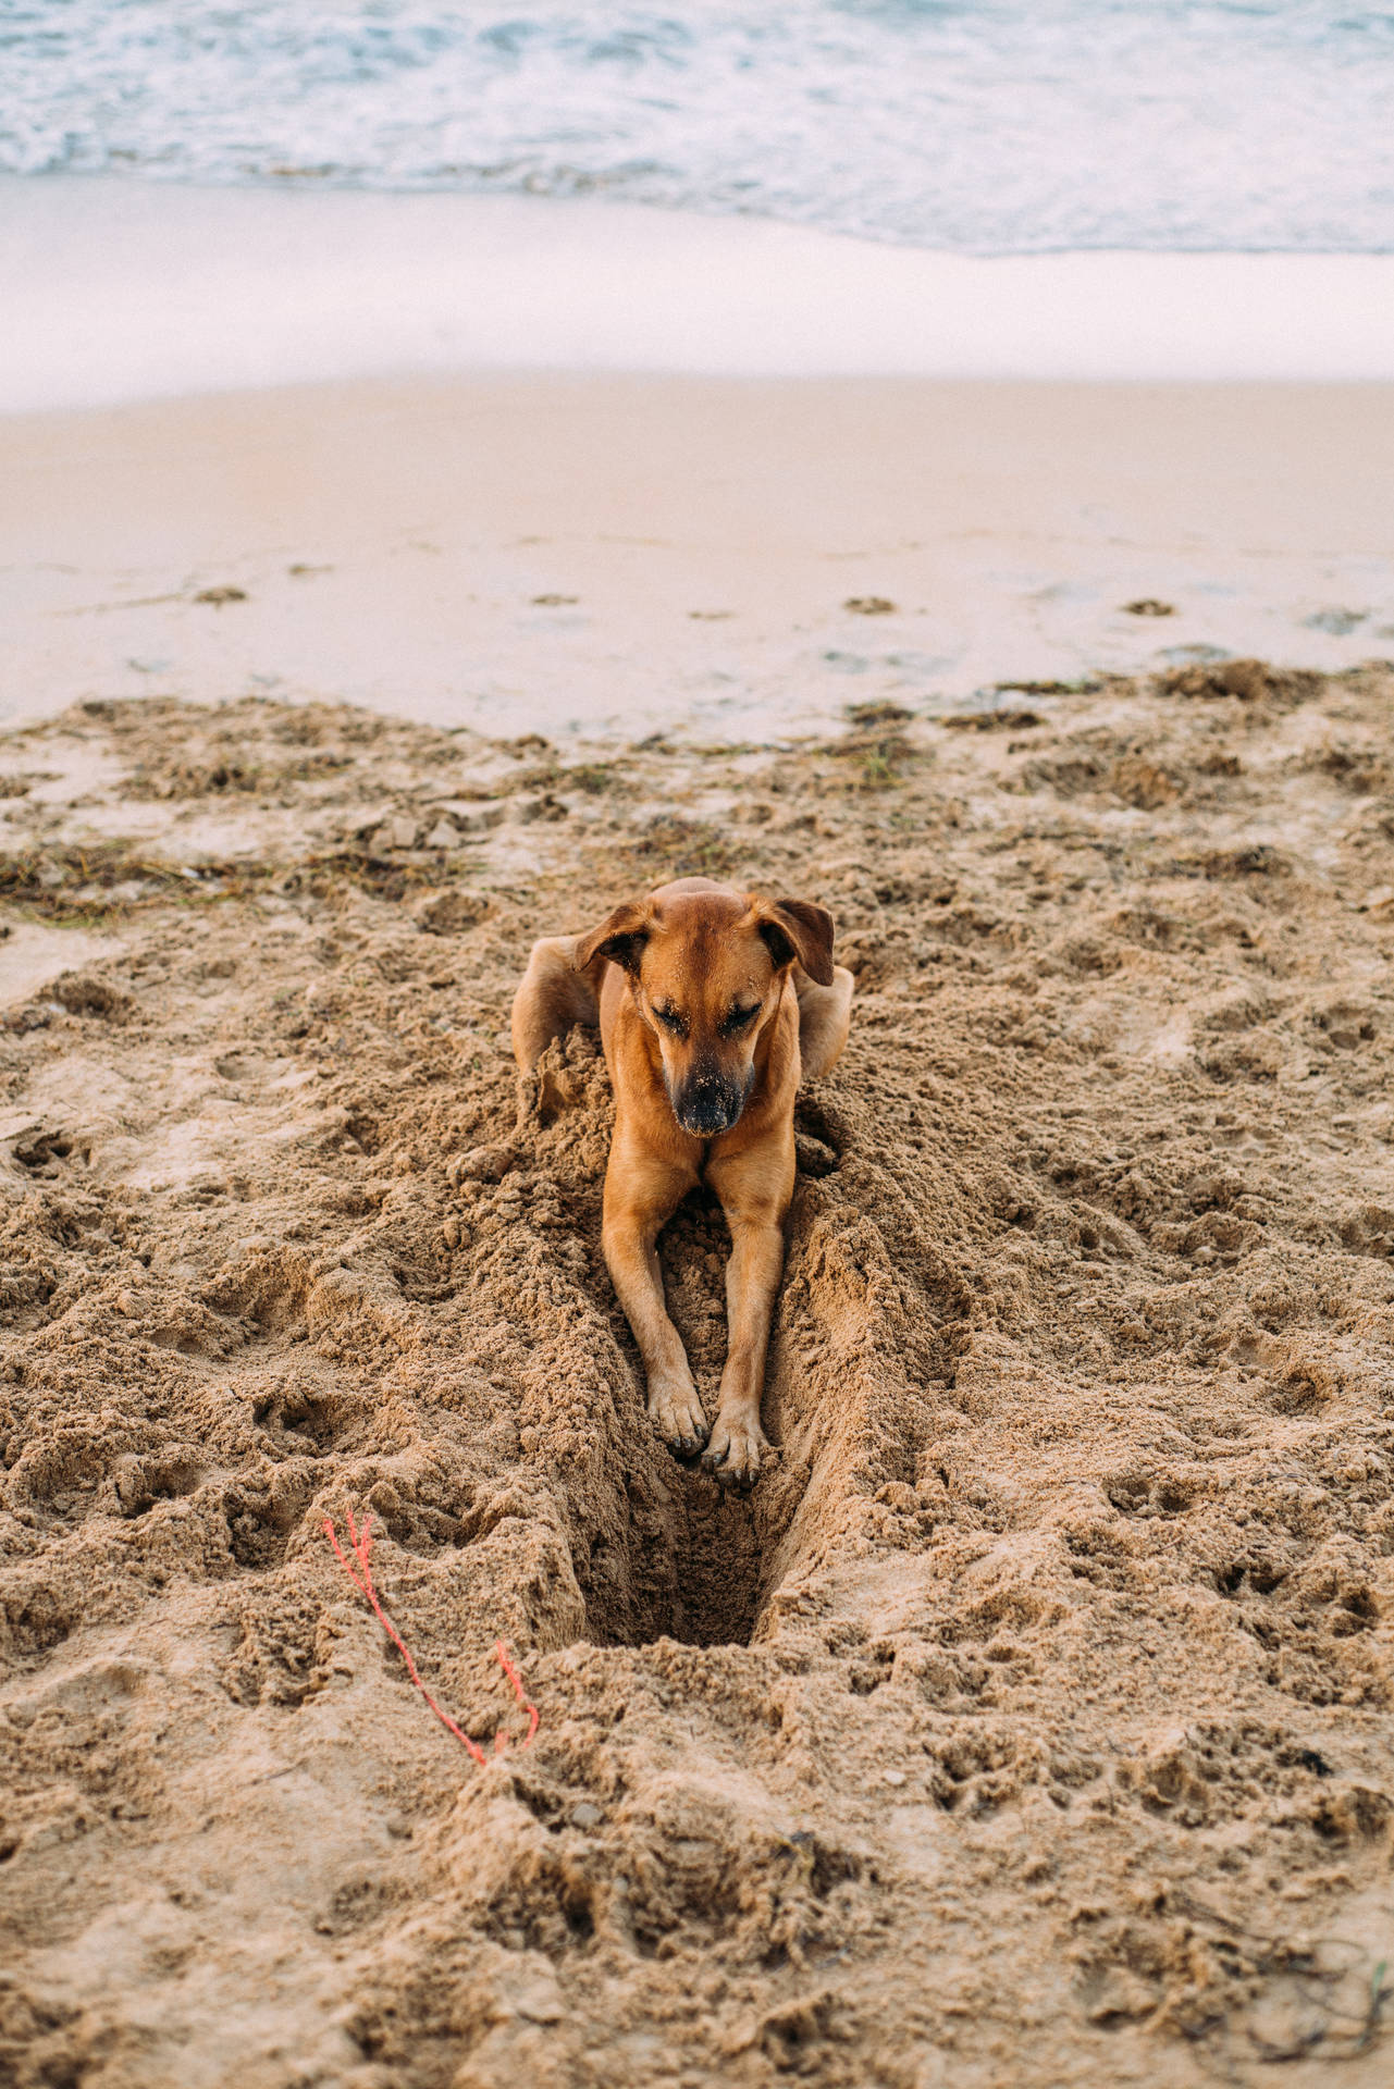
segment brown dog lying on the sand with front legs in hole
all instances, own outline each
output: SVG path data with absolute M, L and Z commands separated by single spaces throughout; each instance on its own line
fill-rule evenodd
M 794 1193 L 794 1093 L 846 1042 L 853 976 L 832 915 L 681 877 L 587 936 L 548 936 L 512 1005 L 522 1072 L 571 1024 L 600 1024 L 614 1086 L 604 1255 L 648 1372 L 648 1412 L 675 1452 L 746 1485 L 767 1448 L 761 1387 Z M 708 1182 L 731 1228 L 729 1343 L 708 1429 L 663 1301 L 656 1239 Z

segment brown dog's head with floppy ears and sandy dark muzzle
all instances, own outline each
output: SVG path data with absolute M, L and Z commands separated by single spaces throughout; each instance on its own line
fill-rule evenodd
M 754 1086 L 754 1053 L 798 961 L 832 984 L 832 915 L 683 879 L 617 907 L 581 936 L 577 965 L 608 957 L 663 1055 L 673 1116 L 694 1139 L 729 1132 Z

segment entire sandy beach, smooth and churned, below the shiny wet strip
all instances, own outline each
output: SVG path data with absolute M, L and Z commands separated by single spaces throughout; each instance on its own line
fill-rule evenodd
M 1390 399 L 0 422 L 6 2083 L 1388 2079 Z M 683 871 L 857 973 L 748 1498 L 506 1040 Z

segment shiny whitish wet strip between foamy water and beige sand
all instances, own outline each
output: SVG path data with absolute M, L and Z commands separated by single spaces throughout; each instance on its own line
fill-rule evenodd
M 1394 255 L 968 255 L 596 198 L 0 178 L 0 414 L 414 372 L 1394 378 Z

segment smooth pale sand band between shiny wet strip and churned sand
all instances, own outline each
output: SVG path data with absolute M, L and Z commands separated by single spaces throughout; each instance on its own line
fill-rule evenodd
M 8 416 L 0 717 L 263 694 L 769 737 L 1014 675 L 1344 668 L 1394 650 L 1392 483 L 1392 384 L 516 374 Z

